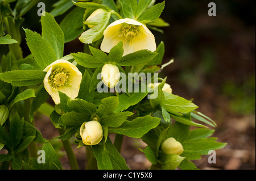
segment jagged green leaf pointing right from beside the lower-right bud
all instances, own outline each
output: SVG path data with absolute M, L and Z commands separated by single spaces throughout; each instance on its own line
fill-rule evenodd
M 224 148 L 226 143 L 217 142 L 212 138 L 197 138 L 195 140 L 186 140 L 182 144 L 183 154 L 187 159 L 200 159 L 201 155 L 208 154 L 209 150 Z

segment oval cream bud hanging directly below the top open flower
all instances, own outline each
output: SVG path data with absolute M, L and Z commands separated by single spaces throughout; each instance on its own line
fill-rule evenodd
M 101 69 L 101 79 L 103 83 L 113 88 L 117 85 L 120 78 L 120 72 L 117 66 L 113 64 L 105 64 Z

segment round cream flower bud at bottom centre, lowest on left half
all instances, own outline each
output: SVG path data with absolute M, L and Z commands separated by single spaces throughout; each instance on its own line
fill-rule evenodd
M 97 145 L 103 137 L 101 124 L 98 121 L 89 121 L 81 125 L 80 136 L 85 145 Z

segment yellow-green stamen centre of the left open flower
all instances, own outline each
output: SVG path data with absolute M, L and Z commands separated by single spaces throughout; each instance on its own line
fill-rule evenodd
M 53 89 L 64 86 L 68 83 L 68 69 L 57 68 L 49 76 L 49 82 Z

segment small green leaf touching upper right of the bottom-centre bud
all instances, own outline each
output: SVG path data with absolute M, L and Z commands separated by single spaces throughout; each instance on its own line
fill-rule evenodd
M 123 124 L 128 116 L 133 115 L 132 112 L 119 112 L 119 113 L 109 113 L 108 115 L 102 117 L 101 124 L 107 125 L 108 127 L 117 128 Z

